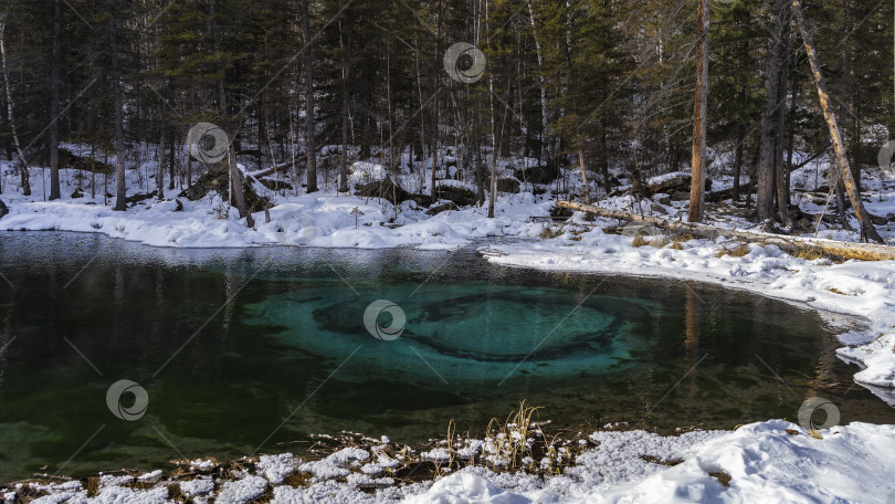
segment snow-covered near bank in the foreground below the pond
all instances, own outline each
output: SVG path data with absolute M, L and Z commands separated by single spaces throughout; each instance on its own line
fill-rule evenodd
M 99 474 L 0 489 L 4 503 L 886 503 L 895 495 L 895 426 L 853 422 L 809 432 L 783 421 L 661 437 L 597 431 L 565 473 L 540 477 L 475 465 L 396 484 L 389 440 L 307 461 L 291 453 L 230 463 L 197 459 L 176 472 Z M 484 445 L 486 442 L 477 442 Z M 434 451 L 432 452 L 434 453 Z M 425 453 L 421 454 L 425 456 Z M 118 472 L 118 474 L 122 474 Z

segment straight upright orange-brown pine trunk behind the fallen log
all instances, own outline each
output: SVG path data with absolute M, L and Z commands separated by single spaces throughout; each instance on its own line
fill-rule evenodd
M 689 222 L 703 220 L 705 202 L 705 135 L 708 112 L 708 0 L 698 0 L 699 30 L 696 49 L 696 99 L 693 111 L 693 178 L 689 187 Z

